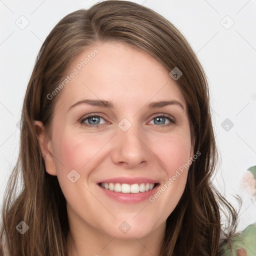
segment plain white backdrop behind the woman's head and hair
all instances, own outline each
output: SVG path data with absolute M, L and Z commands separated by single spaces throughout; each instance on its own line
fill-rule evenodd
M 18 154 L 20 131 L 16 123 L 20 119 L 36 54 L 45 37 L 63 16 L 96 2 L 0 0 L 1 200 Z M 255 198 L 241 186 L 246 169 L 256 165 L 256 1 L 134 2 L 152 8 L 170 20 L 191 44 L 206 72 L 212 121 L 221 156 L 214 184 L 235 206 L 232 195 L 238 193 L 242 196 L 239 229 L 243 229 L 256 221 Z M 20 29 L 16 22 L 29 24 Z M 234 24 L 230 26 L 232 22 Z M 234 124 L 228 131 L 221 126 L 226 118 Z

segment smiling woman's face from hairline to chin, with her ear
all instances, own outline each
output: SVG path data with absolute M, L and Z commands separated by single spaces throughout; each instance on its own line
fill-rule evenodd
M 163 230 L 193 155 L 187 106 L 175 81 L 153 57 L 120 42 L 88 47 L 68 70 L 51 139 L 40 135 L 40 141 L 69 224 L 120 238 Z M 174 103 L 152 103 L 159 101 Z

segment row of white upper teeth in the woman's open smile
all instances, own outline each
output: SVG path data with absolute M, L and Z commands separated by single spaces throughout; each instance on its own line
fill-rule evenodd
M 120 184 L 120 183 L 100 183 L 100 186 L 115 192 L 122 193 L 139 193 L 153 189 L 154 183 L 140 183 L 140 184 Z

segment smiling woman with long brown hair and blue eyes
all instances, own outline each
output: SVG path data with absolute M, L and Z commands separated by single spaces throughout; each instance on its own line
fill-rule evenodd
M 237 213 L 210 182 L 207 81 L 162 16 L 112 0 L 66 15 L 38 53 L 21 117 L 0 234 L 9 255 L 223 253 Z

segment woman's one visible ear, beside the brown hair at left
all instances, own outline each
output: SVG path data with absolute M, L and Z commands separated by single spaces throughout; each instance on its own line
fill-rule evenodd
M 37 140 L 41 149 L 41 153 L 45 163 L 46 171 L 51 175 L 56 175 L 56 166 L 52 149 L 52 141 L 44 132 L 44 126 L 41 121 L 33 121 L 34 129 L 37 135 Z

